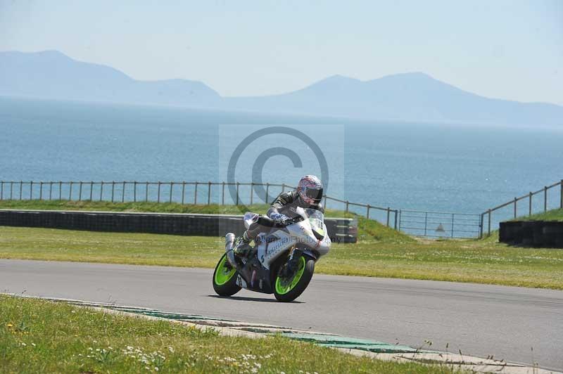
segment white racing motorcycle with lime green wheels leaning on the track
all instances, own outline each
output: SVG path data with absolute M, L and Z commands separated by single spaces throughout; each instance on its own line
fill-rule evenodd
M 232 296 L 246 288 L 273 293 L 280 302 L 291 302 L 303 293 L 315 271 L 315 262 L 329 252 L 331 240 L 322 212 L 297 207 L 296 213 L 297 217 L 283 224 L 267 216 L 244 214 L 247 229 L 255 223 L 272 229 L 258 234 L 257 244 L 246 257 L 234 254 L 235 236 L 227 233 L 225 252 L 213 273 L 217 295 Z

